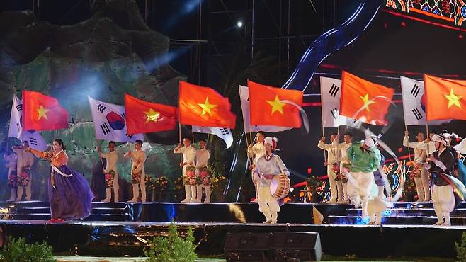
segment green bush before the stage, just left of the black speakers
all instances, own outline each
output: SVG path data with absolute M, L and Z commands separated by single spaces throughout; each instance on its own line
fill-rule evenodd
M 186 238 L 180 237 L 176 224 L 172 222 L 169 227 L 168 237 L 154 237 L 149 241 L 149 249 L 144 249 L 147 261 L 195 261 L 193 228 L 189 227 Z

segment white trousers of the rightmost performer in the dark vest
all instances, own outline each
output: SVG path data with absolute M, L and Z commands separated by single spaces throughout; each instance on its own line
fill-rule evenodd
M 453 193 L 453 187 L 447 186 L 436 186 L 433 185 L 432 190 L 433 210 L 435 210 L 438 224 L 443 222 L 444 224 L 450 224 L 450 212 L 455 208 L 455 193 Z

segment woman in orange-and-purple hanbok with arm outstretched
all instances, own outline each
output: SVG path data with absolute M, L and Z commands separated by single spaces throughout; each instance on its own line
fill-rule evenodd
M 79 220 L 91 215 L 91 201 L 94 195 L 86 178 L 67 166 L 68 156 L 64 152 L 62 139 L 53 141 L 53 150 L 41 152 L 27 149 L 42 159 L 49 159 L 52 166 L 49 178 L 49 203 L 52 218 L 50 222 Z

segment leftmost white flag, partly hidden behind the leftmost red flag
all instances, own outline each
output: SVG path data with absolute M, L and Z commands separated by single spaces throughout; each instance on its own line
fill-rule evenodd
M 13 96 L 13 105 L 11 106 L 10 128 L 8 130 L 8 137 L 16 137 L 21 142 L 27 141 L 29 147 L 45 151 L 47 143 L 39 132 L 34 130 L 23 131 L 23 102 L 18 96 Z

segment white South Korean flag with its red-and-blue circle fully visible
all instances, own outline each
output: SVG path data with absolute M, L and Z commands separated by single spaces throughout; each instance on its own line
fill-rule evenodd
M 114 142 L 144 140 L 144 135 L 127 135 L 125 106 L 105 103 L 89 97 L 96 139 Z

